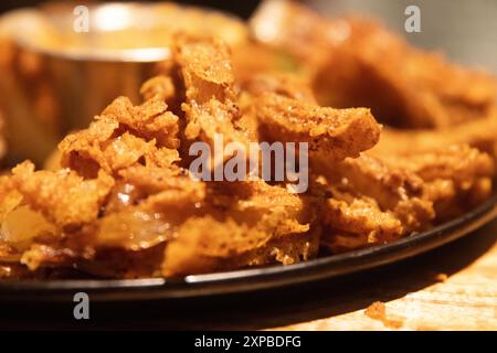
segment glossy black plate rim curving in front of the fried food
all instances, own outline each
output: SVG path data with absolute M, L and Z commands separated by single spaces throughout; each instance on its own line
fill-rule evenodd
M 357 272 L 412 257 L 469 234 L 497 216 L 497 195 L 467 214 L 395 243 L 290 266 L 133 280 L 0 281 L 0 300 L 65 301 L 84 291 L 92 300 L 150 300 L 228 295 L 278 288 Z

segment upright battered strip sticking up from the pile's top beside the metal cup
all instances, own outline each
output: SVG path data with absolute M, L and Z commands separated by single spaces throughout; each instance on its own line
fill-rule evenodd
M 243 131 L 234 126 L 240 108 L 229 47 L 216 40 L 183 39 L 173 57 L 184 87 L 181 109 L 187 142 L 197 139 L 213 146 L 215 135 L 222 135 L 225 142 L 246 143 Z

